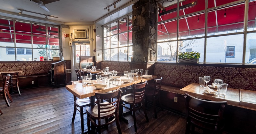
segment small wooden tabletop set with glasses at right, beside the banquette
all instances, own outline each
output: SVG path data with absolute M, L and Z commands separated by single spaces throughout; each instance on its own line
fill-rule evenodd
M 228 88 L 225 97 L 221 97 L 217 94 L 209 95 L 203 92 L 204 87 L 199 87 L 198 83 L 191 83 L 188 86 L 180 89 L 180 93 L 188 93 L 194 97 L 212 101 L 227 101 L 228 105 L 239 106 L 240 96 L 239 89 Z M 217 91 L 215 89 L 215 91 Z

